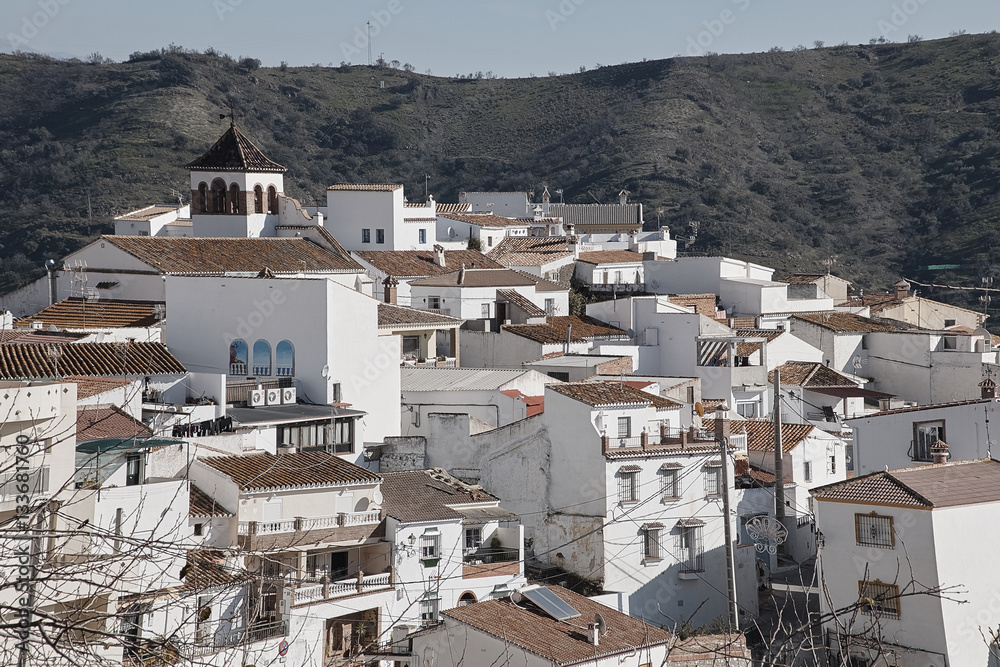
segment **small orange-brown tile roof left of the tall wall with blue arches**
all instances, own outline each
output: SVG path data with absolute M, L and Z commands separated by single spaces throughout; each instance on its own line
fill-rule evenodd
M 164 304 L 157 301 L 102 299 L 88 303 L 86 299 L 72 297 L 19 319 L 16 324 L 28 326 L 41 322 L 43 326 L 60 329 L 151 327 L 162 319 L 158 313 L 163 313 L 163 308 Z

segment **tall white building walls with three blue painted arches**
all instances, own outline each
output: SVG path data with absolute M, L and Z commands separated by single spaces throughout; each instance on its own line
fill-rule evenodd
M 300 400 L 319 405 L 335 400 L 339 384 L 340 400 L 367 413 L 358 421 L 357 442 L 397 433 L 400 341 L 378 335 L 373 298 L 323 278 L 169 276 L 166 291 L 167 344 L 189 369 L 234 380 L 280 372 L 292 377 Z M 247 359 L 234 370 L 230 346 L 237 340 L 245 342 Z M 290 360 L 279 345 L 291 349 Z M 265 365 L 267 375 L 252 372 Z

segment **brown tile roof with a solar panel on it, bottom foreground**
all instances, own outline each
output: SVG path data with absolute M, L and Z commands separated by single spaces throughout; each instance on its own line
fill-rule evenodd
M 666 630 L 626 616 L 614 609 L 594 602 L 561 586 L 546 586 L 552 593 L 580 612 L 580 617 L 560 622 L 539 610 L 527 600 L 514 604 L 510 598 L 488 600 L 442 611 L 441 615 L 485 632 L 497 639 L 535 654 L 546 664 L 571 665 L 597 663 L 599 656 L 635 653 L 645 646 L 658 646 L 673 641 Z M 608 633 L 601 637 L 599 647 L 587 641 L 586 629 L 595 614 L 601 614 L 608 624 Z M 705 638 L 700 638 L 704 642 Z M 670 652 L 671 663 L 684 649 L 674 647 Z M 702 658 L 705 654 L 701 654 Z

